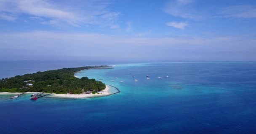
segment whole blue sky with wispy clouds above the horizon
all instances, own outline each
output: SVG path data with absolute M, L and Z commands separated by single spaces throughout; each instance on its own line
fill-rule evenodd
M 0 60 L 255 61 L 255 0 L 0 0 Z

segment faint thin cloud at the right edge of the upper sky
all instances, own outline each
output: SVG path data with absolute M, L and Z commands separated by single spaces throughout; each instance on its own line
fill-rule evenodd
M 224 8 L 221 12 L 225 17 L 256 18 L 256 8 L 251 5 L 235 5 Z

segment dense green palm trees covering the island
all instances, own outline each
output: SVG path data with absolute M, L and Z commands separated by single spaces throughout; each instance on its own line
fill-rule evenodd
M 105 67 L 105 66 L 101 66 Z M 0 92 L 46 92 L 46 93 L 74 93 L 80 94 L 88 90 L 103 90 L 106 85 L 95 79 L 74 77 L 75 72 L 93 67 L 63 68 L 37 72 L 33 74 L 17 75 L 0 80 Z M 27 85 L 32 83 L 32 86 Z

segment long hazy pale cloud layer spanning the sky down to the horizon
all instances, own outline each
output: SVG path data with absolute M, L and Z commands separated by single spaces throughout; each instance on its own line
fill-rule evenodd
M 64 56 L 77 59 L 109 57 L 161 60 L 256 60 L 254 36 L 138 37 L 93 33 L 35 31 L 0 33 L 0 59 L 48 59 Z M 232 48 L 232 49 L 230 49 Z M 106 51 L 107 50 L 107 51 Z M 49 56 L 50 55 L 50 56 Z M 65 58 L 64 58 L 65 59 Z M 31 60 L 31 59 L 30 59 Z

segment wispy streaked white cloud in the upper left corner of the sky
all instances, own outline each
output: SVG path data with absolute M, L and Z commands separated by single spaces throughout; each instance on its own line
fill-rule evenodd
M 72 26 L 85 24 L 106 24 L 112 25 L 119 13 L 111 12 L 107 9 L 108 3 L 95 3 L 93 0 L 80 1 L 83 6 L 69 3 L 57 3 L 58 1 L 49 0 L 0 0 L 0 15 L 2 19 L 12 20 L 11 16 L 21 14 L 30 17 L 45 18 L 47 21 L 42 23 L 63 24 L 68 23 Z M 76 3 L 72 1 L 72 3 Z M 3 13 L 8 16 L 3 17 Z M 39 20 L 40 21 L 40 20 Z

